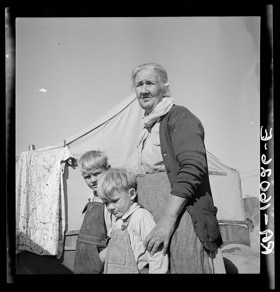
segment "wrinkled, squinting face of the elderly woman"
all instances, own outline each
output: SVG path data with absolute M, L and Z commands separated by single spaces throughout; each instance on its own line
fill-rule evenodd
M 157 74 L 150 69 L 137 73 L 135 92 L 140 106 L 149 114 L 163 98 L 163 88 L 158 81 Z

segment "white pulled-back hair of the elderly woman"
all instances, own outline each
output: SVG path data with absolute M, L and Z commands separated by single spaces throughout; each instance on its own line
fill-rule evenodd
M 169 89 L 170 81 L 167 79 L 167 72 L 161 65 L 157 63 L 146 63 L 133 69 L 131 72 L 132 88 L 135 88 L 135 78 L 138 72 L 145 69 L 152 70 L 157 74 L 159 84 L 164 91 L 163 96 L 171 96 L 171 91 Z

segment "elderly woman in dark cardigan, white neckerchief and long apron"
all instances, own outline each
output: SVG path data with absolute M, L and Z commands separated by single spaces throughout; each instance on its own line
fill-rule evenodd
M 155 63 L 131 73 L 145 109 L 131 168 L 137 176 L 138 203 L 157 225 L 145 239 L 152 256 L 170 251 L 170 273 L 225 273 L 223 243 L 214 207 L 200 120 L 174 104 L 166 70 Z

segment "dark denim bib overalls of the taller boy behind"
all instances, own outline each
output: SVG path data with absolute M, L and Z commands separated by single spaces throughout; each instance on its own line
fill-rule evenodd
M 85 217 L 76 242 L 74 274 L 103 274 L 99 252 L 107 246 L 104 206 L 102 202 L 89 201 L 82 212 Z

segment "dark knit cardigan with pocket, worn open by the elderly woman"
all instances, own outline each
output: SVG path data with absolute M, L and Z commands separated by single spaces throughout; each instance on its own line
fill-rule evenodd
M 204 128 L 187 108 L 173 105 L 161 117 L 159 140 L 171 194 L 188 198 L 187 211 L 206 251 L 223 243 L 209 183 Z

